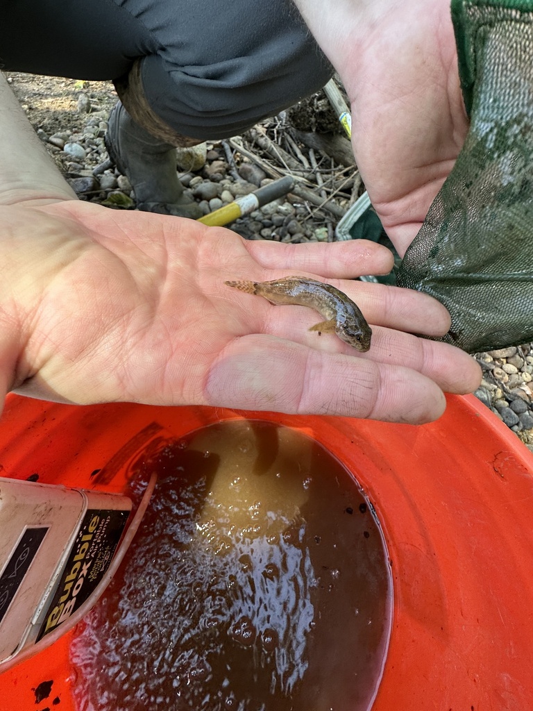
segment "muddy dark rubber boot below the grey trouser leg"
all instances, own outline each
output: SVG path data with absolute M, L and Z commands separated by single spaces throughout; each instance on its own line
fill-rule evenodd
M 183 195 L 176 146 L 141 127 L 120 101 L 109 116 L 105 144 L 109 158 L 129 178 L 139 210 L 193 220 L 202 217 L 198 204 Z

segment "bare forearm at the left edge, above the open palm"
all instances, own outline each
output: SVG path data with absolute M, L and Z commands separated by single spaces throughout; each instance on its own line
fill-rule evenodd
M 0 205 L 75 197 L 0 73 Z

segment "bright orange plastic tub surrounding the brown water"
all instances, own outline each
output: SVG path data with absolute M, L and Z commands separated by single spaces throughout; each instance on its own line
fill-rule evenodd
M 533 708 L 533 455 L 474 397 L 450 397 L 438 422 L 413 427 L 11 396 L 0 420 L 0 474 L 122 491 L 162 439 L 239 417 L 311 435 L 375 506 L 394 602 L 374 711 Z M 0 675 L 0 711 L 75 708 L 75 634 Z M 50 697 L 36 705 L 36 689 L 49 680 Z

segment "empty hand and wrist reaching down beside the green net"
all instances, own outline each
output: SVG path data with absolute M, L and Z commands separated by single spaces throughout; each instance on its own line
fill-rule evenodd
M 352 146 L 401 256 L 461 151 L 468 119 L 449 0 L 295 0 L 350 97 Z

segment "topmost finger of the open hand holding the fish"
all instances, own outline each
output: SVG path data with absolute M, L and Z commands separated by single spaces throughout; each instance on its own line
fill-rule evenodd
M 388 274 L 394 257 L 387 247 L 370 240 L 345 242 L 245 242 L 249 255 L 264 269 L 294 269 L 326 279 L 352 279 L 363 274 Z

